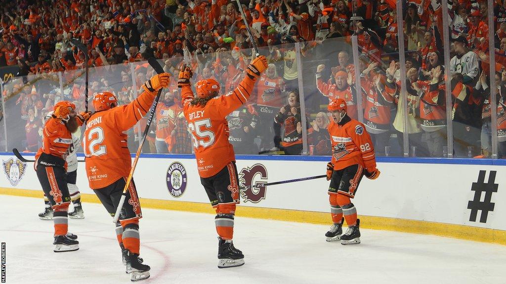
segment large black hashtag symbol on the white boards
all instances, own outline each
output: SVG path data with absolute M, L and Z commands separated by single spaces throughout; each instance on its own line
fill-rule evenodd
M 473 182 L 473 186 L 471 186 L 471 191 L 475 192 L 473 200 L 468 203 L 468 209 L 471 209 L 471 215 L 469 216 L 469 221 L 471 222 L 476 222 L 478 211 L 481 210 L 480 223 L 486 223 L 488 212 L 494 211 L 495 203 L 492 203 L 491 200 L 492 193 L 497 192 L 499 185 L 494 183 L 497 171 L 490 171 L 487 183 L 485 183 L 485 173 L 486 171 L 480 171 L 478 182 Z M 483 201 L 480 201 L 482 193 L 485 193 L 485 198 Z

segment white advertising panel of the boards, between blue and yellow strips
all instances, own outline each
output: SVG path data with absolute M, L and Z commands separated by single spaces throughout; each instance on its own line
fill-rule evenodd
M 149 155 L 147 155 L 149 156 Z M 3 162 L 1 187 L 40 190 L 31 163 Z M 77 185 L 88 188 L 85 164 Z M 267 182 L 321 175 L 325 162 L 237 160 L 239 206 L 329 212 L 325 178 L 264 186 Z M 363 178 L 352 202 L 359 215 L 506 230 L 506 174 L 490 165 L 378 163 L 381 176 Z M 97 173 L 100 174 L 100 173 Z M 208 203 L 195 159 L 141 158 L 134 174 L 141 198 Z

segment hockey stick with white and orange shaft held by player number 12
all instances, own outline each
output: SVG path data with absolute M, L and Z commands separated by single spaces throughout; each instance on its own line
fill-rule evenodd
M 151 57 L 148 59 L 149 65 L 156 71 L 156 73 L 160 74 L 163 73 L 163 68 L 160 66 L 158 61 L 154 57 Z M 126 179 L 125 187 L 123 188 L 123 194 L 121 195 L 121 199 L 119 200 L 118 208 L 116 208 L 116 213 L 114 214 L 114 218 L 112 220 L 113 223 L 116 223 L 119 218 L 119 212 L 121 212 L 121 209 L 123 208 L 123 203 L 125 202 L 126 198 L 126 191 L 128 190 L 128 187 L 130 185 L 130 182 L 132 181 L 132 177 L 134 176 L 135 167 L 137 166 L 137 161 L 139 161 L 139 156 L 141 155 L 142 146 L 144 145 L 144 141 L 146 140 L 146 137 L 148 136 L 149 132 L 149 126 L 151 125 L 151 121 L 153 120 L 153 117 L 155 116 L 156 111 L 156 105 L 158 104 L 158 100 L 160 99 L 161 90 L 158 90 L 158 93 L 156 94 L 156 98 L 153 101 L 153 105 L 151 106 L 148 121 L 146 122 L 146 128 L 144 129 L 144 133 L 142 134 L 142 140 L 139 144 L 139 148 L 137 149 L 137 153 L 135 154 L 134 163 L 132 164 L 132 169 L 130 170 L 130 174 L 128 175 L 128 178 Z

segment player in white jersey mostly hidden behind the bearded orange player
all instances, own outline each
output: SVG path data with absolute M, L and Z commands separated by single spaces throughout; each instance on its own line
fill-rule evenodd
M 49 119 L 53 112 L 49 112 L 46 115 L 46 119 Z M 75 133 L 72 133 L 72 145 L 69 148 L 69 154 L 66 158 L 67 161 L 67 186 L 70 194 L 70 199 L 74 205 L 74 211 L 68 213 L 68 217 L 72 219 L 83 219 L 85 218 L 84 212 L 82 211 L 81 205 L 81 194 L 79 188 L 76 185 L 77 178 L 77 148 L 81 142 L 81 129 L 77 128 Z M 53 208 L 49 203 L 48 198 L 44 195 L 44 203 L 46 208 L 44 212 L 39 213 L 38 217 L 41 220 L 53 220 Z

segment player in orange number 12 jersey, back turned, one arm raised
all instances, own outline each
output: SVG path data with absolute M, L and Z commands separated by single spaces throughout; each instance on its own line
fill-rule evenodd
M 114 216 L 126 179 L 130 174 L 132 159 L 124 132 L 134 126 L 149 111 L 156 93 L 166 87 L 170 74 L 154 75 L 143 85 L 144 91 L 128 105 L 117 106 L 113 93 L 99 92 L 93 99 L 95 113 L 86 123 L 83 149 L 86 156 L 86 172 L 90 188 L 111 216 Z M 148 265 L 139 257 L 139 219 L 141 205 L 134 180 L 126 191 L 125 203 L 116 223 L 116 236 L 122 250 L 126 273 L 132 281 L 149 277 Z

